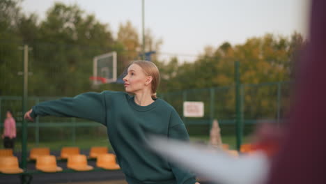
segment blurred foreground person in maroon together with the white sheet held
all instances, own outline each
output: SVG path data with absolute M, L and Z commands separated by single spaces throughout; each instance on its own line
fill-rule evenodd
M 280 132 L 263 130 L 260 137 L 265 141 L 260 141 L 258 148 L 264 149 L 266 144 L 277 148 L 280 144 L 279 153 L 272 157 L 270 172 L 268 153 L 259 151 L 231 159 L 222 152 L 204 151 L 205 148 L 157 137 L 153 137 L 150 146 L 173 162 L 217 183 L 326 183 L 325 9 L 326 1 L 312 1 L 309 42 L 297 63 L 295 98 L 286 127 Z M 283 135 L 281 141 L 277 141 L 278 134 Z M 274 138 L 266 141 L 269 135 Z

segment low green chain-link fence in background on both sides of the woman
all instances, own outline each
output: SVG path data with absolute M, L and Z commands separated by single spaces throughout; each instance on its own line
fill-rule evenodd
M 235 87 L 224 86 L 210 89 L 189 89 L 163 93 L 160 98 L 169 102 L 183 118 L 190 136 L 209 135 L 213 119 L 219 121 L 223 135 L 235 135 Z M 241 84 L 240 106 L 242 114 L 243 134 L 249 135 L 253 125 L 259 122 L 281 123 L 284 112 L 290 101 L 290 82 L 274 82 L 265 84 Z M 32 107 L 38 102 L 54 100 L 61 97 L 29 97 L 27 106 Z M 184 101 L 201 101 L 204 103 L 204 116 L 187 118 L 183 116 Z M 17 121 L 17 134 L 22 127 L 22 97 L 0 96 L 0 120 L 6 118 L 6 109 L 12 109 Z M 2 129 L 3 123 L 0 123 Z M 100 123 L 85 121 L 79 118 L 38 117 L 35 122 L 27 123 L 29 143 L 38 146 L 42 141 L 53 139 L 71 140 L 76 143 L 78 132 L 88 137 L 98 137 L 98 132 L 105 135 L 106 129 Z M 46 137 L 46 138 L 45 138 Z M 19 141 L 20 136 L 17 137 Z

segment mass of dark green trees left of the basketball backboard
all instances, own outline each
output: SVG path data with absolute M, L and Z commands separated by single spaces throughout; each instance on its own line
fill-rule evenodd
M 22 93 L 22 51 L 29 51 L 29 95 L 77 95 L 91 90 L 88 77 L 93 75 L 93 57 L 111 52 L 116 42 L 94 15 L 78 6 L 55 3 L 45 20 L 20 13 L 16 1 L 1 1 L 6 19 L 0 24 L 0 95 Z M 2 5 L 1 4 L 1 5 Z M 6 5 L 6 6 L 5 6 Z

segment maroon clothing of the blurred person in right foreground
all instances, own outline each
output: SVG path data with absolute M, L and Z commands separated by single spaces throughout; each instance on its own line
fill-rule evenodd
M 326 183 L 326 1 L 311 1 L 308 43 L 297 63 L 295 98 L 267 184 Z

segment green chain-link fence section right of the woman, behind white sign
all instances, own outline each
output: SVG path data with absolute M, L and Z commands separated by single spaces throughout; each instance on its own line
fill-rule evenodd
M 281 123 L 290 100 L 290 82 L 240 85 L 240 113 L 244 142 L 251 141 L 257 123 Z M 235 146 L 235 86 L 210 89 L 192 89 L 166 93 L 162 98 L 176 108 L 187 125 L 189 135 L 198 141 L 207 142 L 210 125 L 217 119 L 222 141 Z M 204 116 L 186 118 L 183 116 L 184 101 L 204 103 Z

